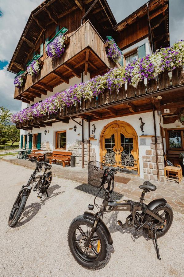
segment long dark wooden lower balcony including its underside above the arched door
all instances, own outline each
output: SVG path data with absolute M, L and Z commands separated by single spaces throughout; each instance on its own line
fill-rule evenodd
M 164 71 L 157 80 L 148 80 L 147 84 L 140 82 L 136 89 L 132 85 L 124 84 L 119 91 L 110 93 L 105 90 L 98 98 L 94 97 L 91 101 L 82 99 L 81 104 L 65 107 L 58 110 L 57 114 L 46 114 L 41 118 L 18 123 L 17 128 L 30 130 L 33 127 L 52 126 L 59 121 L 67 123 L 70 117 L 81 117 L 90 121 L 114 118 L 152 111 L 153 107 L 161 110 L 164 123 L 169 123 L 167 121 L 170 117 L 167 117 L 168 114 L 164 115 L 164 109 L 170 108 L 169 115 L 172 114 L 174 120 L 178 119 L 179 111 L 184 108 L 183 93 L 184 72 L 182 67 L 179 67 L 172 72 Z M 158 95 L 161 97 L 158 98 Z

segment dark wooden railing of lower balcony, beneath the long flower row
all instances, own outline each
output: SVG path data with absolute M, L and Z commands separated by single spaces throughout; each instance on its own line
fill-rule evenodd
M 58 110 L 57 114 L 45 114 L 41 118 L 34 118 L 33 120 L 25 121 L 23 123 L 18 123 L 18 128 L 25 128 L 29 126 L 30 128 L 34 127 L 34 124 L 51 124 L 57 121 L 68 122 L 70 116 L 80 116 L 89 117 L 94 116 L 95 118 L 103 119 L 103 110 L 109 110 L 111 115 L 122 116 L 127 114 L 127 103 L 129 104 L 129 109 L 132 109 L 131 103 L 133 104 L 134 112 L 140 112 L 141 110 L 146 110 L 144 105 L 146 105 L 144 99 L 151 99 L 154 95 L 163 94 L 165 98 L 168 98 L 170 101 L 171 95 L 176 94 L 176 99 L 179 94 L 182 98 L 184 90 L 184 71 L 182 66 L 174 69 L 172 72 L 164 71 L 158 76 L 158 78 L 147 80 L 147 82 L 140 82 L 137 88 L 134 88 L 132 85 L 124 84 L 123 87 L 119 90 L 114 90 L 112 93 L 108 89 L 104 93 L 99 94 L 98 97 L 91 98 L 91 100 L 82 99 L 81 103 L 77 102 L 76 105 L 71 107 L 65 107 L 64 109 Z M 168 95 L 168 97 L 167 97 Z M 155 98 L 156 99 L 156 98 Z M 182 98 L 183 99 L 183 98 Z M 138 107 L 138 101 L 141 102 L 141 107 Z M 179 101 L 179 100 L 178 100 Z M 150 106 L 152 106 L 151 101 Z M 116 110 L 116 106 L 121 108 Z M 137 107 L 136 107 L 137 106 Z M 112 109 L 113 107 L 113 109 Z M 157 107 L 159 109 L 159 107 Z M 93 118 L 92 118 L 93 119 Z M 49 123 L 50 122 L 50 123 Z M 29 129 L 29 127 L 27 127 Z

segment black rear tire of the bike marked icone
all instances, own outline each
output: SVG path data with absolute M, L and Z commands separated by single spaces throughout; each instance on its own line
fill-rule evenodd
M 154 212 L 157 212 L 157 211 L 160 211 L 160 210 L 166 210 L 168 213 L 169 213 L 169 224 L 165 227 L 164 231 L 163 232 L 160 232 L 160 233 L 157 233 L 157 239 L 162 237 L 163 235 L 165 235 L 167 233 L 167 231 L 170 229 L 171 225 L 172 225 L 172 222 L 173 222 L 173 211 L 172 211 L 172 208 L 169 204 L 165 204 L 165 205 L 162 205 L 158 208 L 156 208 L 154 210 Z M 149 215 L 146 215 L 144 217 L 144 220 L 143 220 L 143 223 L 145 222 L 145 220 L 147 219 Z M 144 232 L 146 235 L 148 235 L 148 237 L 150 239 L 154 239 L 154 234 L 148 229 L 148 228 L 143 228 Z

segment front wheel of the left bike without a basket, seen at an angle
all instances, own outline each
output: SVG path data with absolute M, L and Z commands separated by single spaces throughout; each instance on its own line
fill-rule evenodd
M 28 196 L 23 195 L 22 193 L 17 199 L 16 203 L 13 205 L 13 208 L 11 210 L 9 220 L 8 220 L 8 225 L 10 227 L 13 227 L 20 219 L 21 214 L 24 211 L 27 199 L 28 199 Z

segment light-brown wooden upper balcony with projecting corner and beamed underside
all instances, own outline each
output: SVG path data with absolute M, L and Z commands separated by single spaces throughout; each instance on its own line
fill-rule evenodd
M 40 74 L 33 77 L 27 75 L 23 87 L 15 88 L 14 98 L 29 103 L 41 94 L 46 95 L 47 91 L 52 92 L 63 82 L 69 84 L 69 79 L 74 76 L 80 78 L 82 71 L 94 77 L 119 66 L 107 57 L 105 42 L 89 20 L 71 34 L 67 42 L 61 58 L 52 59 L 44 52 L 40 58 L 43 64 Z

